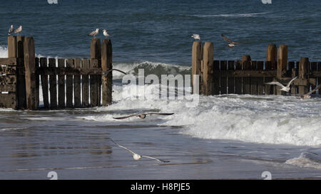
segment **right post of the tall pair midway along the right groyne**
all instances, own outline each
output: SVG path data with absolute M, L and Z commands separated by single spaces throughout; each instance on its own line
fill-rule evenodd
M 285 77 L 287 72 L 287 45 L 280 45 L 277 55 L 277 80 L 282 80 Z M 277 85 L 276 94 L 284 95 L 285 92 L 282 92 L 281 87 Z

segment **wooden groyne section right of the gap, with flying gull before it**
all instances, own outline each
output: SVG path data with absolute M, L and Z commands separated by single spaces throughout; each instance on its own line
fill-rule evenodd
M 192 74 L 200 76 L 200 94 L 203 95 L 286 95 L 277 85 L 266 82 L 289 82 L 290 95 L 303 95 L 321 82 L 321 62 L 287 61 L 287 45 L 268 45 L 265 61 L 251 60 L 244 55 L 241 60 L 214 60 L 213 43 L 195 41 L 192 48 Z M 319 93 L 320 94 L 320 93 Z

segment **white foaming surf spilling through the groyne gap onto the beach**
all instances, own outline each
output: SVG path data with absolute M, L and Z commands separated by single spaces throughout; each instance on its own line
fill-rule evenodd
M 175 112 L 170 117 L 161 117 L 161 125 L 183 126 L 181 134 L 202 139 L 231 139 L 260 144 L 292 144 L 297 146 L 321 145 L 320 99 L 300 100 L 284 96 L 227 95 L 200 97 L 198 107 L 186 107 L 186 100 L 148 99 L 123 97 L 123 92 L 136 85 L 114 86 L 113 103 L 100 110 L 128 110 L 131 113 L 145 109 Z M 149 87 L 155 87 L 150 85 Z M 146 90 L 146 92 L 151 90 Z M 128 92 L 126 92 L 127 94 Z M 143 94 L 138 94 L 138 96 Z M 113 115 L 85 117 L 95 121 L 118 122 L 118 117 L 128 112 Z M 139 118 L 131 118 L 130 121 Z M 129 121 L 129 120 L 128 120 Z M 123 120 L 126 122 L 126 120 Z

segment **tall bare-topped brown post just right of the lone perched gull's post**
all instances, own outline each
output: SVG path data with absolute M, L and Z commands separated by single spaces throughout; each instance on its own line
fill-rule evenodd
M 203 50 L 203 95 L 213 95 L 213 43 L 206 42 Z

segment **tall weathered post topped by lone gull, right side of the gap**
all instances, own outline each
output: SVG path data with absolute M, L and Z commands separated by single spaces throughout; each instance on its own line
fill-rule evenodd
M 199 93 L 201 94 L 202 86 L 201 86 L 201 79 L 202 79 L 202 72 L 201 72 L 201 63 L 203 60 L 203 48 L 202 48 L 202 43 L 200 41 L 194 41 L 193 42 L 193 48 L 192 48 L 192 77 L 191 77 L 191 82 L 192 82 L 192 92 L 193 90 L 193 80 L 194 80 L 194 75 L 199 75 L 200 80 L 199 82 Z

